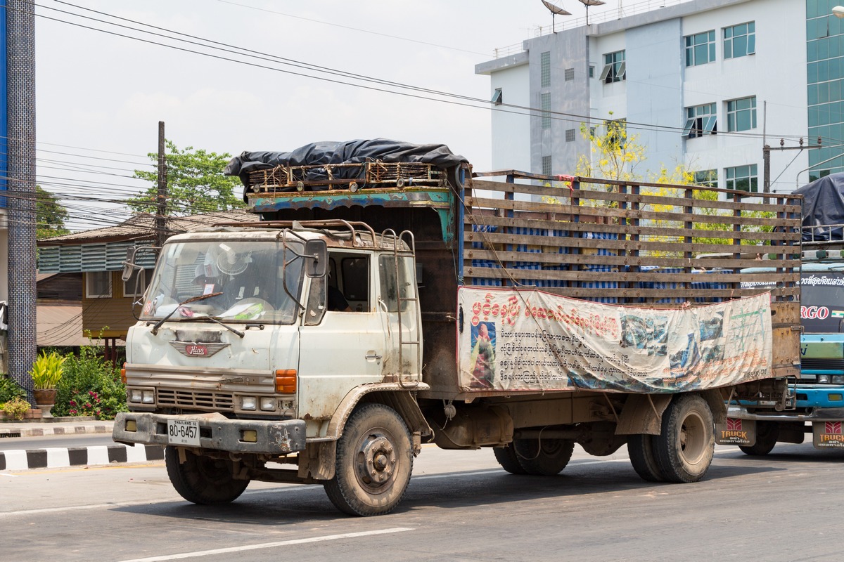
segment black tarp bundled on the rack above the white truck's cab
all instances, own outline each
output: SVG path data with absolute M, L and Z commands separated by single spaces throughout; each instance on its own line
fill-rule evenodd
M 249 174 L 256 170 L 273 169 L 276 166 L 324 166 L 326 164 L 365 163 L 380 160 L 385 163 L 430 163 L 438 169 L 450 169 L 466 158 L 452 153 L 444 144 L 412 144 L 392 141 L 386 138 L 354 140 L 346 142 L 312 142 L 289 153 L 245 152 L 232 158 L 225 167 L 226 175 L 236 175 L 249 190 Z M 343 174 L 357 174 L 354 169 L 340 169 L 335 177 Z M 319 170 L 314 170 L 313 179 L 320 179 Z M 356 178 L 357 175 L 347 175 Z

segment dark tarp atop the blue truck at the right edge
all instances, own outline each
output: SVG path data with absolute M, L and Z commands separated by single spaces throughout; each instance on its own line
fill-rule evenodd
M 844 224 L 844 173 L 815 179 L 794 191 L 803 195 L 803 241 L 842 240 L 841 226 L 813 228 L 820 225 Z

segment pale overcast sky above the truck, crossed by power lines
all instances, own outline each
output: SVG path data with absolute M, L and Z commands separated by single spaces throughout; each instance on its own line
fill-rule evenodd
M 576 0 L 556 3 L 573 14 L 558 16 L 558 29 L 585 14 Z M 151 169 L 145 155 L 156 150 L 160 120 L 180 148 L 235 155 L 381 136 L 445 143 L 475 170 L 490 169 L 489 106 L 472 100 L 490 98 L 490 78 L 475 75 L 474 66 L 551 24 L 540 0 L 36 0 L 36 6 L 38 183 L 62 197 L 108 200 L 147 186 L 131 179 L 132 170 Z M 609 0 L 591 8 L 590 18 L 618 10 L 619 0 Z M 443 103 L 435 100 L 444 99 L 439 92 L 468 99 Z M 74 230 L 125 218 L 116 205 L 104 212 L 93 201 L 64 202 Z

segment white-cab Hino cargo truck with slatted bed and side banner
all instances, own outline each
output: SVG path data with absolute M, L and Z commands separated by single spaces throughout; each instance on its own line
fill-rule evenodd
M 793 407 L 799 201 L 422 168 L 325 190 L 285 163 L 241 170 L 262 220 L 160 249 L 115 441 L 165 446 L 197 504 L 299 482 L 369 516 L 398 505 L 425 442 L 541 475 L 576 443 L 626 444 L 643 479 L 695 482 L 726 403 Z M 740 273 L 743 243 L 774 272 Z M 694 259 L 723 244 L 737 253 Z

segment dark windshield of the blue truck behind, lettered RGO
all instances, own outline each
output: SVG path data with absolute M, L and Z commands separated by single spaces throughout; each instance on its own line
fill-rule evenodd
M 808 334 L 844 331 L 844 273 L 803 272 L 800 276 L 800 318 Z

